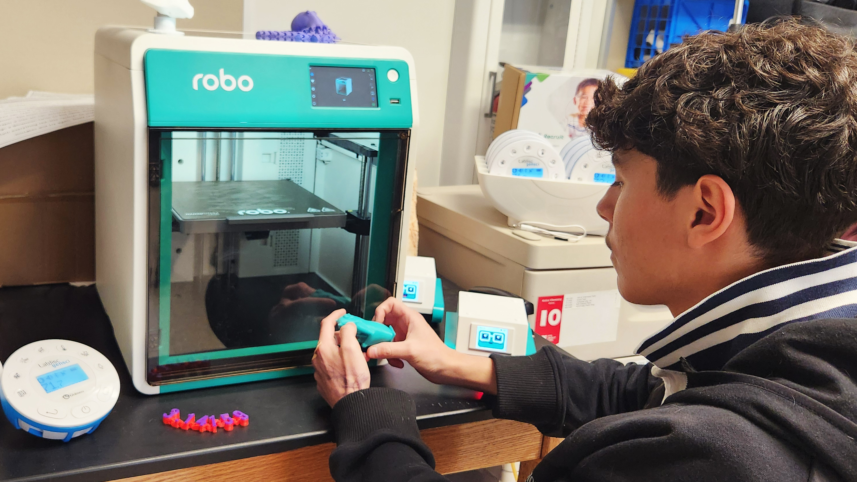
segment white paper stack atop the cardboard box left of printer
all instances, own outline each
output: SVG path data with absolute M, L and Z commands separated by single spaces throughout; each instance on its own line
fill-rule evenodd
M 0 148 L 54 130 L 93 122 L 91 93 L 30 91 L 24 97 L 0 100 Z

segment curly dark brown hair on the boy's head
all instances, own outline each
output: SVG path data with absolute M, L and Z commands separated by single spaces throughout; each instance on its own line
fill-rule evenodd
M 852 41 L 787 19 L 686 37 L 621 88 L 602 81 L 586 124 L 599 148 L 654 158 L 668 199 L 723 178 L 779 266 L 824 256 L 857 221 L 855 116 Z

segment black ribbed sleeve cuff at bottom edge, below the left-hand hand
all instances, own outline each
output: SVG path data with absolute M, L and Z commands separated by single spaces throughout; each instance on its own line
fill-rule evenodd
M 345 395 L 333 406 L 337 448 L 330 473 L 337 482 L 440 482 L 434 455 L 420 438 L 417 406 L 396 389 L 373 387 Z

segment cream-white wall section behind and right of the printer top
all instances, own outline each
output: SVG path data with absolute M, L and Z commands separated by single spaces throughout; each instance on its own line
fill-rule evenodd
M 399 45 L 414 56 L 420 124 L 411 160 L 421 186 L 437 185 L 455 0 L 244 0 L 244 31 L 289 30 L 291 19 L 306 9 L 346 41 Z

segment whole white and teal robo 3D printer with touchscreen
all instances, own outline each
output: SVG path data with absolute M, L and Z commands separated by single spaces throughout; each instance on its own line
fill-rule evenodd
M 96 282 L 137 390 L 309 373 L 322 317 L 399 294 L 415 87 L 399 47 L 99 30 Z

